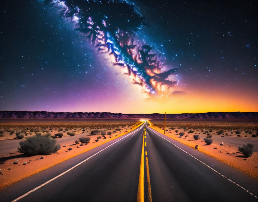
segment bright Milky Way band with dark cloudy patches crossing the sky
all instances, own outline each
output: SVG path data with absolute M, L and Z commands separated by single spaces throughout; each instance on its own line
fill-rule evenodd
M 171 75 L 178 69 L 164 70 L 164 57 L 137 38 L 137 30 L 147 25 L 133 5 L 117 0 L 44 2 L 56 8 L 98 51 L 109 55 L 113 65 L 118 65 L 143 92 L 149 96 L 173 92 L 177 80 L 171 80 L 175 78 Z

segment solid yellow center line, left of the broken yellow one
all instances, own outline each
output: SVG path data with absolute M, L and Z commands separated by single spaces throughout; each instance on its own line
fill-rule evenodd
M 144 128 L 145 129 L 145 128 Z M 144 143 L 144 135 L 143 135 L 143 143 Z M 144 144 L 142 147 L 141 154 L 141 165 L 140 165 L 140 176 L 139 176 L 139 184 L 138 184 L 138 193 L 137 193 L 137 202 L 144 202 Z

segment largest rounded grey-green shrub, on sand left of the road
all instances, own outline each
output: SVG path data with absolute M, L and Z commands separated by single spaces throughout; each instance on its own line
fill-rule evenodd
M 26 140 L 20 141 L 19 152 L 24 154 L 51 154 L 60 149 L 56 140 L 45 136 L 27 137 Z

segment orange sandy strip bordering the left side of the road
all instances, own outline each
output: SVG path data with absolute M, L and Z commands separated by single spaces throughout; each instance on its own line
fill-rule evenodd
M 138 126 L 134 126 L 126 133 L 134 130 L 136 127 Z M 106 139 L 101 138 L 98 142 L 95 142 L 95 139 L 99 135 L 91 135 L 88 136 L 91 138 L 90 142 L 87 145 L 82 146 L 79 146 L 79 144 L 76 145 L 74 141 L 61 143 L 61 149 L 58 150 L 58 153 L 56 154 L 28 156 L 17 152 L 15 154 L 11 154 L 12 156 L 8 155 L 6 157 L 0 158 L 0 169 L 1 172 L 3 172 L 3 175 L 0 175 L 0 190 L 5 186 L 8 186 L 14 182 L 22 180 L 23 178 L 36 174 L 42 170 L 50 168 L 69 158 L 87 152 L 94 147 L 97 147 L 112 139 L 125 135 L 126 133 L 116 133 L 112 135 L 111 138 L 106 135 Z M 117 136 L 115 137 L 115 135 Z M 72 150 L 68 151 L 67 149 L 69 149 L 70 147 L 72 148 Z M 16 162 L 16 160 L 18 160 L 18 164 L 13 164 L 14 162 Z M 25 162 L 26 164 L 23 165 L 23 163 Z

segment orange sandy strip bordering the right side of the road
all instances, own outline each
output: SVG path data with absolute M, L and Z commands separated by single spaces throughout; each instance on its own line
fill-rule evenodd
M 164 133 L 164 130 L 162 130 L 161 127 L 151 125 L 151 128 L 162 134 Z M 166 127 L 166 129 L 168 129 L 168 127 Z M 195 131 L 195 133 L 188 134 L 187 131 L 184 131 L 183 129 L 177 129 L 177 133 L 175 130 L 176 129 L 168 129 L 168 131 L 165 132 L 165 135 L 190 147 L 195 147 L 198 145 L 198 150 L 200 152 L 208 154 L 209 156 L 212 156 L 221 162 L 229 166 L 233 166 L 238 170 L 241 170 L 242 172 L 258 179 L 258 152 L 254 152 L 251 157 L 245 158 L 242 154 L 238 153 L 238 146 L 236 145 L 224 143 L 224 145 L 221 146 L 221 142 L 215 140 L 213 140 L 212 144 L 207 145 L 203 140 L 203 135 L 201 134 L 198 134 L 201 135 L 200 139 L 193 139 L 193 135 L 195 135 L 195 133 L 201 133 L 200 131 Z M 188 135 L 188 137 L 185 137 L 185 135 L 183 137 L 177 135 L 180 132 L 184 132 L 185 135 Z

